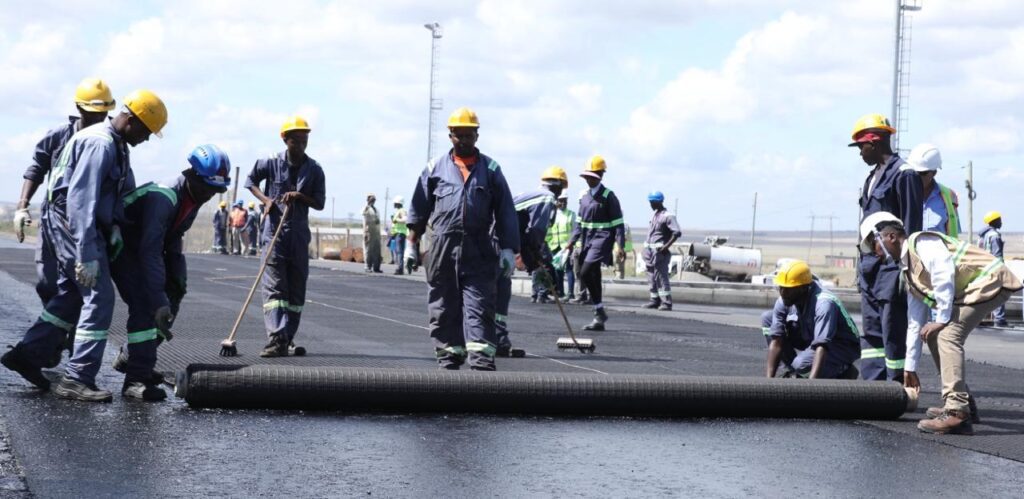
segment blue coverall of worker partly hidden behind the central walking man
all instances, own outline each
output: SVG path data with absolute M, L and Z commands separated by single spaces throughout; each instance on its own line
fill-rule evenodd
M 555 195 L 546 189 L 520 194 L 512 200 L 518 219 L 520 258 L 526 272 L 535 273 L 544 265 L 554 279 L 551 251 L 546 238 L 555 219 Z M 500 246 L 500 245 L 499 245 Z M 541 260 L 539 261 L 538 258 Z M 509 301 L 512 300 L 512 279 L 498 275 L 498 300 L 495 305 L 495 328 L 499 346 L 511 346 L 508 331 Z

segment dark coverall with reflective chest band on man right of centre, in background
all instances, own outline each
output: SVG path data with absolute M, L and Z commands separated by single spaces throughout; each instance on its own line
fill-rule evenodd
M 615 243 L 626 247 L 626 224 L 618 198 L 610 189 L 599 183 L 580 197 L 580 222 L 572 231 L 569 246 L 580 244 L 581 260 L 577 279 L 583 282 L 595 308 L 601 304 L 601 265 L 611 264 L 611 250 Z

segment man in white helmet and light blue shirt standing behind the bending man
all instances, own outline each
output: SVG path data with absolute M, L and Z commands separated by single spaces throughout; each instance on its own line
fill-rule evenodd
M 921 176 L 923 183 L 922 227 L 924 231 L 943 233 L 950 238 L 959 238 L 959 216 L 956 208 L 959 202 L 956 193 L 935 179 L 938 170 L 942 169 L 942 155 L 938 148 L 931 143 L 922 143 L 910 151 L 906 163 L 900 167 L 913 170 Z M 922 340 L 921 328 L 931 322 L 931 310 L 925 306 L 914 307 L 914 298 L 907 295 L 906 325 L 906 364 L 903 368 L 903 384 L 908 387 L 921 387 L 918 378 L 918 361 L 921 359 Z

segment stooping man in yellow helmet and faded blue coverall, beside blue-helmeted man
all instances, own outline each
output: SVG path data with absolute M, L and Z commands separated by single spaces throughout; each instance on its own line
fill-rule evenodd
M 119 223 L 121 200 L 135 189 L 128 145 L 138 145 L 167 124 L 167 108 L 157 95 L 137 90 L 110 121 L 72 136 L 51 172 L 50 240 L 57 253 L 57 294 L 46 303 L 25 338 L 2 358 L 3 365 L 48 389 L 40 368 L 47 366 L 70 331 L 75 344 L 65 375 L 53 387 L 63 399 L 110 402 L 95 385 L 114 315 L 110 260 L 124 247 Z M 69 317 L 81 310 L 78 324 Z

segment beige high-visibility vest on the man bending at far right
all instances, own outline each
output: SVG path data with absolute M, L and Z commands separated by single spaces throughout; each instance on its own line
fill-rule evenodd
M 955 268 L 954 304 L 976 305 L 994 299 L 1004 290 L 1024 289 L 1020 280 L 1002 262 L 1002 258 L 996 258 L 977 246 L 945 234 L 925 231 L 911 234 L 906 241 L 908 251 L 903 276 L 909 285 L 910 293 L 924 300 L 928 306 L 935 305 L 935 288 L 932 286 L 932 276 L 918 256 L 918 238 L 923 234 L 938 236 L 952 254 Z

